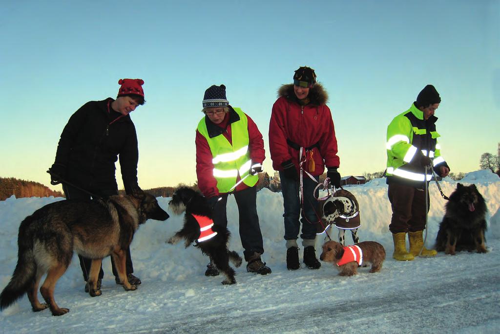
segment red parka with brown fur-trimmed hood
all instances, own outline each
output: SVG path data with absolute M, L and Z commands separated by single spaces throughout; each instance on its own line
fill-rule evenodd
M 337 140 L 330 109 L 325 105 L 328 99 L 320 84 L 310 88 L 310 102 L 301 106 L 293 93 L 293 85 L 283 85 L 278 91 L 279 98 L 272 106 L 269 123 L 269 151 L 272 167 L 282 170 L 281 164 L 290 160 L 298 170 L 299 150 L 291 147 L 286 140 L 304 148 L 316 145 L 305 153 L 302 165 L 311 175 L 321 175 L 324 167 L 338 167 Z M 314 167 L 309 163 L 312 159 Z M 312 170 L 314 169 L 314 170 Z

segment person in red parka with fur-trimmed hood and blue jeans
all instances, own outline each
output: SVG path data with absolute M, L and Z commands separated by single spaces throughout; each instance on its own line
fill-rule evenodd
M 300 268 L 300 222 L 303 262 L 310 269 L 321 266 L 314 248 L 318 216 L 313 192 L 325 167 L 331 184 L 340 187 L 337 140 L 327 100 L 327 93 L 316 83 L 314 70 L 300 67 L 293 75 L 293 84 L 279 88 L 278 99 L 272 106 L 269 150 L 272 167 L 279 171 L 281 181 L 288 270 Z M 302 201 L 299 192 L 303 194 Z

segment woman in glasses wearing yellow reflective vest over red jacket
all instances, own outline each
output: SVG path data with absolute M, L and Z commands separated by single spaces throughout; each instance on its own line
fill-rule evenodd
M 268 274 L 271 269 L 260 258 L 264 248 L 255 187 L 265 158 L 262 134 L 248 115 L 229 105 L 224 85 L 205 91 L 202 112 L 205 116 L 198 123 L 195 140 L 198 187 L 213 205 L 213 223 L 224 228 L 227 197 L 234 194 L 246 270 Z M 218 274 L 210 259 L 205 275 Z

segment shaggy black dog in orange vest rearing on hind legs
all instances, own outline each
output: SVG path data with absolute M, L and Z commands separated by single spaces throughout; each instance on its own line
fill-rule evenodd
M 186 248 L 196 242 L 196 247 L 208 255 L 217 269 L 226 276 L 222 284 L 236 283 L 235 272 L 229 266 L 229 260 L 239 267 L 242 259 L 238 253 L 227 249 L 230 232 L 227 228 L 213 225 L 212 208 L 206 198 L 191 188 L 180 187 L 173 193 L 168 208 L 177 215 L 185 213 L 182 229 L 167 242 L 175 244 L 184 239 Z

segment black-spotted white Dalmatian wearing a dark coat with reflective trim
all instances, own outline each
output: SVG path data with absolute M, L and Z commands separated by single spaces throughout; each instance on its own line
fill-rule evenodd
M 338 229 L 338 242 L 345 244 L 345 230 L 350 230 L 352 241 L 359 242 L 357 229 L 359 228 L 359 204 L 356 198 L 347 190 L 340 189 L 323 203 L 321 220 L 326 228 L 333 224 Z

